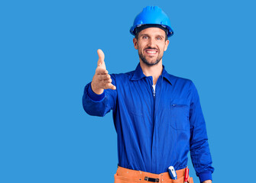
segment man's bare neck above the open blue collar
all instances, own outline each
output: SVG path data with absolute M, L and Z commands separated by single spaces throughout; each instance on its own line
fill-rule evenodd
M 153 85 L 156 85 L 157 79 L 159 78 L 159 76 L 162 74 L 162 71 L 163 71 L 162 60 L 160 60 L 160 62 L 154 66 L 147 66 L 145 63 L 143 63 L 140 60 L 140 65 L 141 65 L 141 69 L 142 69 L 142 72 L 144 73 L 144 75 L 152 76 L 153 77 Z

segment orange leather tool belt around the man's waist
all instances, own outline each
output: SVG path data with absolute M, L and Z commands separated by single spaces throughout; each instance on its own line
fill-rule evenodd
M 139 170 L 125 169 L 118 166 L 116 171 L 115 183 L 131 183 L 131 182 L 169 182 L 169 183 L 184 183 L 185 169 L 180 169 L 176 171 L 177 180 L 170 178 L 169 172 L 164 172 L 160 174 L 153 174 L 148 172 L 142 172 Z M 193 178 L 188 179 L 189 183 L 193 183 Z

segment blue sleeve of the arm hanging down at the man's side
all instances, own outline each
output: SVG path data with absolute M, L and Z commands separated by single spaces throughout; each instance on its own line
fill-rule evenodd
M 200 182 L 212 180 L 212 157 L 209 151 L 206 122 L 195 85 L 191 85 L 190 156 Z

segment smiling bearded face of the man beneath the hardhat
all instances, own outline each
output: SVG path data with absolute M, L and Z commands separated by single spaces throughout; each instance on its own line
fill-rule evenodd
M 138 40 L 134 38 L 134 48 L 147 66 L 154 66 L 162 60 L 164 51 L 167 50 L 169 40 L 165 40 L 166 33 L 157 27 L 141 30 Z

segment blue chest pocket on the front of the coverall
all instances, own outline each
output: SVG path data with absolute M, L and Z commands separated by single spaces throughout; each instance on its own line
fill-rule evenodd
M 187 99 L 170 99 L 170 126 L 175 130 L 190 129 L 190 104 Z

